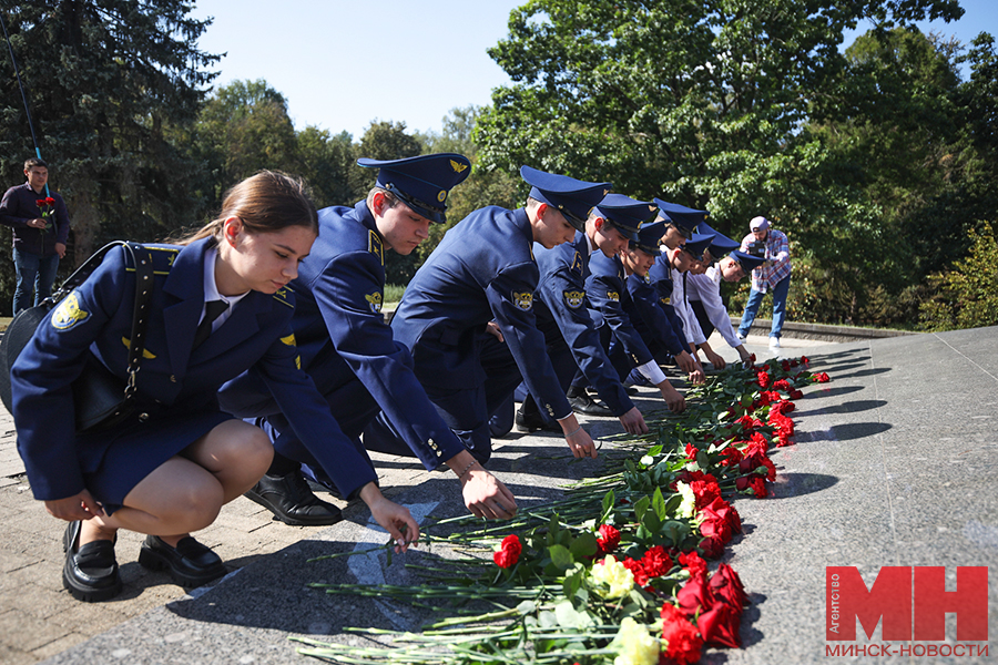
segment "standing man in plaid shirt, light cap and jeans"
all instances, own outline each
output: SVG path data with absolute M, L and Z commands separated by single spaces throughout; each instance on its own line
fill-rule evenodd
M 742 252 L 761 256 L 766 262 L 752 270 L 752 290 L 739 325 L 739 339 L 745 340 L 762 299 L 766 291 L 772 291 L 773 326 L 770 329 L 770 348 L 775 351 L 780 349 L 780 331 L 786 317 L 786 294 L 790 290 L 791 275 L 790 242 L 786 234 L 770 228 L 768 219 L 762 216 L 754 217 L 748 223 L 748 228 L 752 233 L 742 239 Z

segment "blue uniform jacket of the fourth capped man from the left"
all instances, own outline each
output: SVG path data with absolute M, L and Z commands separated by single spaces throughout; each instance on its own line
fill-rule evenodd
M 592 274 L 585 280 L 585 295 L 592 306 L 602 315 L 603 320 L 613 330 L 617 340 L 634 366 L 641 366 L 653 359 L 648 345 L 634 329 L 630 307 L 631 296 L 624 279 L 624 268 L 618 257 L 605 256 L 602 252 L 593 254 L 589 259 Z

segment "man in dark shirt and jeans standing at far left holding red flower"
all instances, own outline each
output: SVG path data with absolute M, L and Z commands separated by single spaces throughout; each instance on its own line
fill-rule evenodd
M 70 231 L 65 202 L 45 187 L 49 165 L 32 157 L 24 162 L 24 175 L 28 182 L 8 190 L 0 201 L 0 223 L 13 228 L 14 316 L 52 294 Z

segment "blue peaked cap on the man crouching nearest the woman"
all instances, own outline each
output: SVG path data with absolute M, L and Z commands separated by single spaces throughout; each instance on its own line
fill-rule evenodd
M 378 168 L 379 187 L 398 196 L 417 215 L 437 223 L 447 221 L 447 194 L 471 174 L 471 162 L 457 153 L 404 160 L 361 157 L 357 164 L 365 168 Z

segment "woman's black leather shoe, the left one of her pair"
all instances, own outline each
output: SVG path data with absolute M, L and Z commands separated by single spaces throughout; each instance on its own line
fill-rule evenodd
M 78 601 L 95 603 L 113 598 L 121 593 L 121 574 L 114 559 L 114 543 L 93 541 L 77 548 L 82 522 L 70 522 L 62 535 L 65 565 L 62 566 L 62 585 Z

